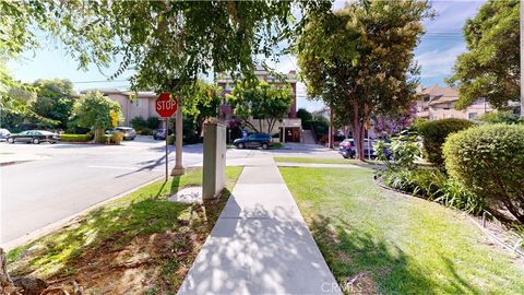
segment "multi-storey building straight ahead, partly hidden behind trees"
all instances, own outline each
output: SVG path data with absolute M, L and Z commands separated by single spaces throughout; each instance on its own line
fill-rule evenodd
M 257 66 L 254 69 L 254 75 L 259 81 L 265 81 L 269 84 L 283 85 L 283 81 L 279 78 L 273 76 L 270 72 L 264 70 L 261 66 Z M 293 104 L 289 107 L 287 118 L 275 125 L 274 131 L 278 131 L 281 134 L 281 141 L 285 142 L 300 142 L 301 139 L 301 120 L 297 118 L 297 73 L 296 71 L 289 71 L 285 76 L 285 83 L 289 84 L 293 88 Z M 233 109 L 226 102 L 226 94 L 231 93 L 235 87 L 235 80 L 224 73 L 217 74 L 216 84 L 222 87 L 223 102 L 219 107 L 219 119 L 222 121 L 229 121 L 234 119 Z M 257 121 L 258 125 L 258 121 Z M 266 126 L 262 126 L 263 130 L 266 130 Z

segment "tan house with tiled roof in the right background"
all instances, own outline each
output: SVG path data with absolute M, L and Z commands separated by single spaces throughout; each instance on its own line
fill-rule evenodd
M 473 120 L 476 117 L 493 110 L 488 102 L 480 97 L 473 102 L 464 110 L 454 109 L 458 101 L 458 90 L 455 87 L 419 87 L 419 99 L 416 103 L 418 118 L 427 118 L 430 121 L 446 118 L 460 118 Z

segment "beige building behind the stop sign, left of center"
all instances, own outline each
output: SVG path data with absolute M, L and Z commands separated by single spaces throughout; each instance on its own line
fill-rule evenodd
M 124 117 L 121 126 L 130 126 L 130 121 L 135 117 L 142 117 L 147 119 L 148 117 L 159 117 L 156 113 L 155 101 L 158 97 L 154 92 L 132 92 L 120 91 L 117 88 L 92 88 L 81 91 L 81 94 L 87 92 L 98 91 L 104 96 L 109 97 L 111 101 L 117 102 L 120 105 L 122 115 Z

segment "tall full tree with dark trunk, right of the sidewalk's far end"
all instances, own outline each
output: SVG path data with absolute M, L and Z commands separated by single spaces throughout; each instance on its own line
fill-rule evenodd
M 413 49 L 431 16 L 426 1 L 358 1 L 310 17 L 296 44 L 308 94 L 350 116 L 357 158 L 371 114 L 405 108 L 415 99 Z

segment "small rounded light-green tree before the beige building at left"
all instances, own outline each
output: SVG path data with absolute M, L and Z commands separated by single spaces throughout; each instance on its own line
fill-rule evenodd
M 58 121 L 58 127 L 66 129 L 73 111 L 73 83 L 60 79 L 37 80 L 33 86 L 36 88 L 36 99 L 31 106 L 33 111 Z

